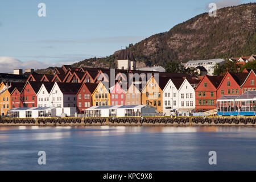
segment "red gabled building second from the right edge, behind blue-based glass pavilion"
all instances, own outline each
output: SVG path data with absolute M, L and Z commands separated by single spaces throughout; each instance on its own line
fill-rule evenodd
M 241 95 L 241 85 L 249 73 L 226 72 L 220 85 L 217 88 L 218 98 L 228 95 Z

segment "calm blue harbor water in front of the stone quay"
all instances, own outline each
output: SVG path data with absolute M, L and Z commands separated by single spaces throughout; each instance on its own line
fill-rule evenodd
M 255 169 L 256 127 L 0 127 L 0 170 Z

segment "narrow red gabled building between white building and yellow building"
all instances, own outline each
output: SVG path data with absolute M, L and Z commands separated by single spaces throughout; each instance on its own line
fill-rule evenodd
M 97 88 L 98 84 L 83 83 L 77 92 L 77 108 L 79 113 L 84 113 L 85 109 L 92 107 L 92 93 Z

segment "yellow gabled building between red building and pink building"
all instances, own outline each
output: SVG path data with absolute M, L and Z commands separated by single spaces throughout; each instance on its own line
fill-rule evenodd
M 98 83 L 97 88 L 92 93 L 92 102 L 93 106 L 110 105 L 110 93 L 102 82 Z

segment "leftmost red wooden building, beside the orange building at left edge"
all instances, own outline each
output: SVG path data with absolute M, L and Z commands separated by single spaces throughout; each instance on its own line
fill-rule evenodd
M 11 92 L 11 109 L 22 107 L 22 99 L 20 98 L 20 93 L 22 92 L 25 84 L 26 82 L 16 82 L 15 84 L 12 84 L 13 92 Z

